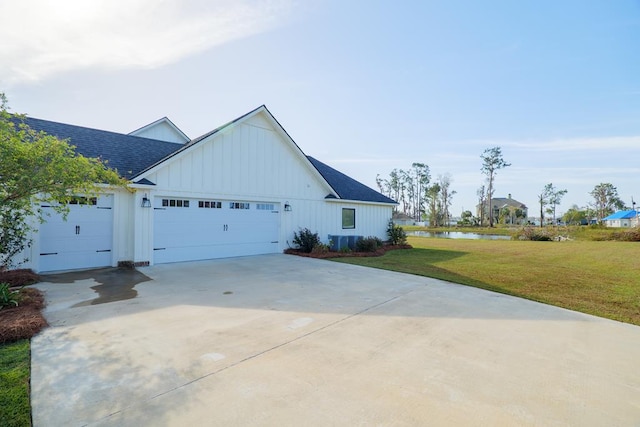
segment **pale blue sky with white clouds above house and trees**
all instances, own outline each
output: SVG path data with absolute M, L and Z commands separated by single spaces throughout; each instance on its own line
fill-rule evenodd
M 0 3 L 12 111 L 195 138 L 266 105 L 305 154 L 377 189 L 426 163 L 451 212 L 495 197 L 558 213 L 611 183 L 640 203 L 639 0 L 22 0 Z

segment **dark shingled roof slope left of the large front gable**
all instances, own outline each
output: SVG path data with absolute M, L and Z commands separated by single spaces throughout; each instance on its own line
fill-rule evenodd
M 44 131 L 61 139 L 69 139 L 76 152 L 85 157 L 99 157 L 107 166 L 127 179 L 136 176 L 183 145 L 173 142 L 141 138 L 104 130 L 50 122 L 27 117 L 25 123 L 32 129 Z

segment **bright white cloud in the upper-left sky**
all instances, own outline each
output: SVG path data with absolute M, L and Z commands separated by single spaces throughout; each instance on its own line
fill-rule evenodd
M 0 4 L 0 84 L 100 67 L 155 68 L 264 32 L 291 0 L 21 0 Z

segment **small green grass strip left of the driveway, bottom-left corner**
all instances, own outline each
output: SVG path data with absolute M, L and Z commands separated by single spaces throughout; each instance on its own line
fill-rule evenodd
M 30 426 L 28 339 L 0 344 L 0 425 Z

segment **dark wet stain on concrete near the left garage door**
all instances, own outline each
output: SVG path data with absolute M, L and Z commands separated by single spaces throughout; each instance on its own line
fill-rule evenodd
M 92 286 L 98 297 L 82 301 L 73 307 L 124 301 L 138 296 L 134 288 L 138 283 L 151 278 L 132 268 L 100 268 L 95 270 L 72 271 L 69 273 L 43 274 L 42 280 L 51 283 L 73 283 L 76 280 L 93 279 L 98 285 Z

